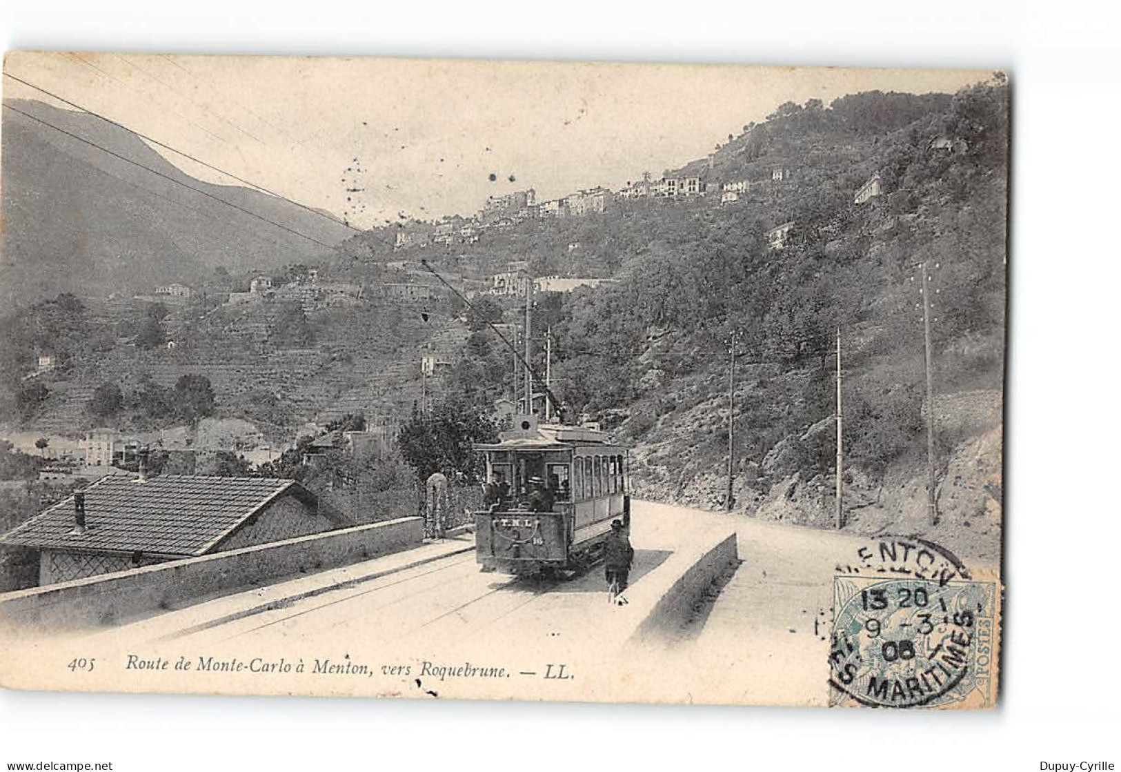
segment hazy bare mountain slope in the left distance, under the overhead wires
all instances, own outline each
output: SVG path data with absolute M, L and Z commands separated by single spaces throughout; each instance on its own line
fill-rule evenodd
M 351 233 L 274 196 L 194 179 L 136 134 L 92 115 L 35 101 L 6 104 L 326 244 Z M 0 301 L 7 306 L 63 291 L 150 292 L 191 283 L 219 266 L 269 269 L 328 253 L 11 110 L 3 111 L 0 170 Z

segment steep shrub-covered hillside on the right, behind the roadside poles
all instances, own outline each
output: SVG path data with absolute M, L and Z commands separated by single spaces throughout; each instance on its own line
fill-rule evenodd
M 552 325 L 563 399 L 633 444 L 638 494 L 723 505 L 734 332 L 735 509 L 831 527 L 840 328 L 846 528 L 998 554 L 1007 102 L 998 76 L 953 96 L 786 104 L 684 167 L 748 180 L 739 202 L 620 202 L 583 225 L 619 281 L 538 304 L 535 328 Z M 876 174 L 882 194 L 855 204 Z M 766 234 L 787 222 L 776 249 Z M 920 261 L 934 301 L 936 529 Z M 461 371 L 478 390 L 503 370 L 475 343 Z

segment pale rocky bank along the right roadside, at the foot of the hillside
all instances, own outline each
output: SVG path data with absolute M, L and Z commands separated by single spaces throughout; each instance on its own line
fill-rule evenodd
M 876 536 L 917 536 L 961 557 L 1000 558 L 1002 527 L 1002 429 L 1000 392 L 949 394 L 936 401 L 936 434 L 960 437 L 937 469 L 938 523 L 927 506 L 925 456 L 909 456 L 878 480 L 860 468 L 842 478 L 843 529 Z M 807 453 L 823 441 L 832 445 L 834 418 L 817 421 L 799 435 L 775 444 L 757 462 L 741 458 L 733 482 L 734 512 L 770 521 L 835 528 L 836 477 L 832 471 L 807 468 Z M 704 509 L 723 509 L 728 469 L 715 466 L 687 483 L 675 481 L 664 466 L 651 465 L 658 448 L 637 445 L 632 482 L 636 495 Z

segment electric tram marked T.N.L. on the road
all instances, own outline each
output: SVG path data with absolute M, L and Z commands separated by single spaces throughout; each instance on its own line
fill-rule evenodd
M 478 561 L 515 575 L 585 570 L 612 520 L 630 530 L 628 449 L 593 427 L 538 424 L 534 416 L 515 417 L 513 427 L 495 444 L 475 445 L 487 478 L 497 474 L 509 486 L 504 501 L 474 513 Z M 532 506 L 541 484 L 553 500 L 547 512 Z

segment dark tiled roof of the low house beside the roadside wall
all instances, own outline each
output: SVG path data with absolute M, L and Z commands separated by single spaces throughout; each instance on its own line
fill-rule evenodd
M 315 496 L 293 480 L 160 475 L 140 483 L 106 475 L 85 489 L 84 533 L 72 533 L 74 497 L 70 496 L 4 533 L 0 545 L 204 555 L 282 494 L 315 503 Z

